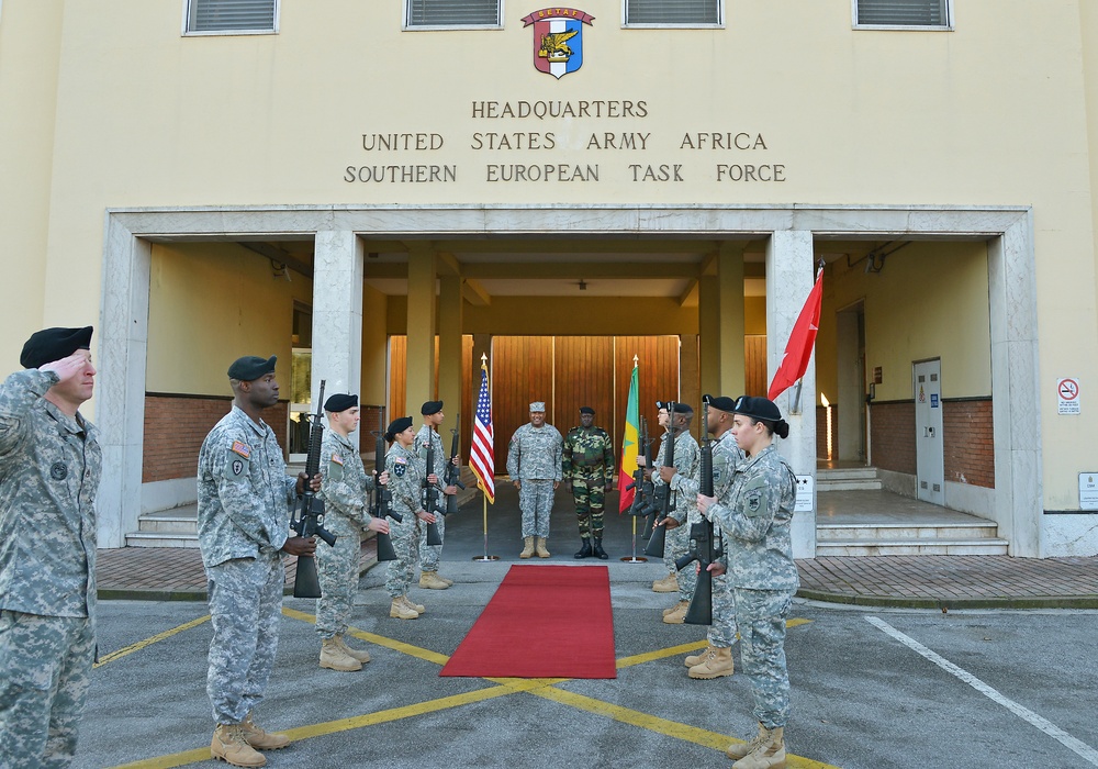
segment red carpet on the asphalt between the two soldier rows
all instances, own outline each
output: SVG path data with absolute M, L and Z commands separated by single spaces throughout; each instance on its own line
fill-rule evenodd
M 617 678 L 605 566 L 512 566 L 439 676 Z

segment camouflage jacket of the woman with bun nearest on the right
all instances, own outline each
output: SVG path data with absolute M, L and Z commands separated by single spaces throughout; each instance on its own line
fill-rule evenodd
M 789 534 L 796 489 L 793 470 L 774 446 L 768 446 L 737 466 L 731 489 L 709 506 L 707 516 L 725 533 L 732 587 L 797 589 Z

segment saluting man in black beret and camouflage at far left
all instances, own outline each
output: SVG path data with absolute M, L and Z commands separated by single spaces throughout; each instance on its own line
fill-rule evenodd
M 46 328 L 0 387 L 0 765 L 72 761 L 96 650 L 102 455 L 91 326 Z

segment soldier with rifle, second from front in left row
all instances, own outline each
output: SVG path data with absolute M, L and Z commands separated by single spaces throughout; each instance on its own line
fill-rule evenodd
M 388 533 L 389 522 L 372 517 L 367 509 L 374 480 L 367 475 L 358 447 L 350 439 L 361 421 L 358 395 L 330 395 L 324 401 L 324 411 L 328 415 L 328 431 L 321 444 L 324 488 L 317 498 L 324 501 L 324 527 L 336 536 L 336 544 L 316 551 L 316 577 L 321 586 L 316 602 L 320 665 L 332 670 L 361 670 L 362 662 L 370 661 L 370 653 L 351 648 L 344 635 L 358 586 L 362 532 Z M 382 486 L 388 483 L 389 473 L 382 472 L 380 480 Z

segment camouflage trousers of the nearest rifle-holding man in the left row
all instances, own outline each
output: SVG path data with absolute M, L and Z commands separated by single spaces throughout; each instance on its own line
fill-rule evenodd
M 285 572 L 280 557 L 261 555 L 211 567 L 206 579 L 213 624 L 206 694 L 216 723 L 238 724 L 267 690 L 278 650 Z

